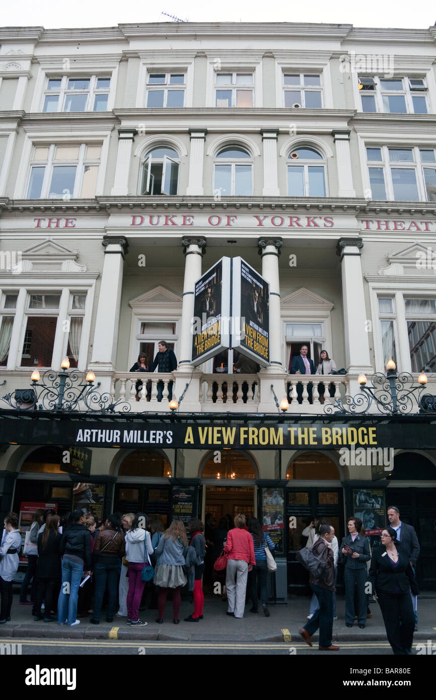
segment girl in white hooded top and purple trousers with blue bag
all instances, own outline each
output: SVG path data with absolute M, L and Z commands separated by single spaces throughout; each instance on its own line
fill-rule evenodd
M 145 582 L 142 580 L 141 571 L 148 557 L 153 554 L 150 533 L 147 531 L 148 516 L 146 513 L 136 513 L 132 522 L 132 528 L 126 533 L 126 559 L 129 562 L 129 590 L 127 591 L 127 624 L 132 626 L 144 626 L 147 623 L 139 619 L 139 605 Z

